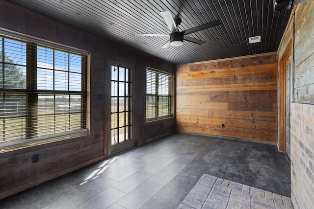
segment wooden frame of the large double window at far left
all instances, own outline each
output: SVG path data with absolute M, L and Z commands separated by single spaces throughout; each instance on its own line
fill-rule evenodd
M 77 129 L 77 130 L 65 130 L 65 131 L 61 131 L 61 132 L 57 132 L 54 134 L 45 134 L 45 135 L 39 135 L 39 136 L 35 136 L 35 137 L 30 137 L 30 135 L 27 132 L 31 131 L 31 128 L 29 128 L 29 126 L 32 126 L 32 122 L 27 122 L 27 117 L 36 117 L 37 119 L 39 118 L 37 116 L 37 114 L 32 115 L 31 112 L 29 110 L 29 105 L 31 105 L 31 103 L 26 103 L 26 106 L 28 108 L 28 110 L 26 110 L 26 114 L 25 115 L 31 115 L 31 116 L 25 116 L 25 136 L 27 137 L 21 137 L 20 139 L 12 139 L 12 140 L 8 140 L 8 141 L 2 141 L 0 143 L 0 147 L 4 147 L 6 149 L 8 148 L 14 148 L 14 147 L 19 147 L 19 146 L 34 146 L 34 145 L 38 145 L 38 144 L 45 144 L 48 142 L 52 142 L 52 141 L 59 141 L 59 140 L 64 140 L 64 139 L 72 139 L 72 138 L 76 138 L 76 137 L 81 137 L 81 136 L 85 136 L 89 134 L 89 70 L 90 70 L 90 53 L 86 52 L 86 51 L 81 51 L 78 50 L 76 48 L 72 48 L 69 46 L 62 46 L 62 45 L 58 45 L 49 41 L 45 41 L 45 40 L 39 40 L 39 39 L 34 39 L 32 37 L 27 37 L 27 36 L 23 36 L 20 34 L 15 34 L 15 33 L 11 33 L 8 31 L 2 31 L 0 30 L 0 38 L 2 40 L 2 38 L 4 39 L 11 39 L 17 42 L 21 42 L 21 43 L 25 43 L 26 44 L 26 89 L 22 89 L 22 88 L 18 88 L 18 89 L 13 89 L 12 88 L 5 88 L 5 87 L 1 87 L 1 93 L 4 93 L 3 95 L 5 95 L 5 93 L 18 93 L 19 95 L 26 95 L 27 99 L 29 100 L 31 99 L 31 97 L 36 97 L 35 99 L 33 99 L 31 101 L 31 103 L 37 102 L 38 103 L 38 99 L 40 98 L 40 95 L 51 95 L 51 96 L 56 96 L 58 94 L 61 95 L 68 95 L 69 96 L 69 100 L 71 99 L 70 96 L 72 95 L 80 95 L 81 99 L 80 99 L 80 122 L 79 122 L 79 126 L 81 127 L 81 129 Z M 2 43 L 1 43 L 2 44 Z M 57 50 L 57 51 L 61 51 L 64 53 L 67 53 L 69 56 L 69 60 L 70 60 L 70 54 L 76 54 L 81 56 L 81 70 L 79 71 L 78 74 L 80 74 L 81 76 L 81 90 L 80 91 L 71 91 L 69 88 L 68 90 L 45 90 L 45 89 L 39 89 L 37 90 L 37 85 L 38 85 L 38 81 L 37 81 L 37 76 L 35 75 L 35 77 L 30 77 L 29 74 L 31 71 L 38 69 L 37 66 L 37 46 L 40 47 L 47 47 L 50 48 L 52 50 Z M 30 50 L 30 48 L 36 48 L 34 50 Z M 34 52 L 35 51 L 35 52 Z M 1 52 L 2 53 L 2 52 Z M 5 51 L 4 51 L 5 53 Z M 33 57 L 33 58 L 31 58 Z M 34 58 L 35 57 L 35 58 Z M 4 59 L 4 58 L 3 58 Z M 54 60 L 55 58 L 53 58 Z M 1 60 L 1 65 L 2 65 L 2 60 Z M 3 63 L 4 65 L 4 63 Z M 30 66 L 33 67 L 30 67 Z M 70 63 L 67 64 L 68 67 L 70 65 Z M 3 69 L 4 70 L 4 69 Z M 52 69 L 53 71 L 55 69 Z M 69 73 L 71 73 L 69 71 Z M 37 74 L 37 72 L 36 72 Z M 36 79 L 36 82 L 32 83 L 31 85 L 29 85 L 29 81 L 30 80 L 34 80 Z M 70 78 L 69 78 L 70 79 Z M 53 81 L 54 82 L 54 81 Z M 71 85 L 70 80 L 68 81 L 68 85 Z M 27 87 L 27 85 L 29 85 Z M 53 83 L 54 85 L 54 83 Z M 33 87 L 35 86 L 35 89 L 33 89 Z M 78 93 L 80 92 L 80 93 Z M 4 101 L 4 100 L 3 100 Z M 83 105 L 82 105 L 83 104 Z M 37 104 L 39 105 L 39 104 Z M 56 104 L 55 104 L 56 105 Z M 70 103 L 69 103 L 70 105 Z M 57 106 L 53 106 L 54 109 Z M 72 113 L 72 109 L 69 109 L 69 116 L 71 116 Z M 55 113 L 54 113 L 55 115 Z M 23 117 L 23 116 L 21 116 Z M 82 119 L 83 118 L 83 119 Z M 29 119 L 29 118 L 28 118 Z M 5 118 L 4 118 L 5 120 Z M 70 122 L 71 120 L 68 120 L 68 122 Z M 66 122 L 64 120 L 64 122 Z M 83 125 L 83 127 L 82 127 Z M 37 127 L 38 128 L 38 127 Z M 22 135 L 21 135 L 22 136 Z

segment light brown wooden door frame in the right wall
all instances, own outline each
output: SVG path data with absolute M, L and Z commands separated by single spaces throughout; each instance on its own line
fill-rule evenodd
M 286 61 L 292 55 L 292 40 L 289 41 L 283 56 L 279 61 L 279 89 L 278 89 L 278 148 L 280 152 L 287 150 L 287 66 Z M 292 71 L 293 71 L 292 57 Z M 293 73 L 292 73 L 293 87 Z M 293 96 L 293 92 L 292 92 Z

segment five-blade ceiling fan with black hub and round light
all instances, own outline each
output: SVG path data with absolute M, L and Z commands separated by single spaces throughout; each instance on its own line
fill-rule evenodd
M 221 24 L 220 20 L 215 20 L 209 23 L 205 23 L 205 24 L 201 24 L 199 26 L 196 27 L 192 27 L 190 29 L 184 30 L 184 31 L 179 31 L 178 29 L 178 25 L 181 24 L 181 19 L 173 19 L 171 12 L 169 11 L 164 11 L 164 12 L 160 12 L 161 16 L 163 17 L 163 19 L 165 20 L 166 24 L 168 25 L 171 33 L 170 34 L 150 34 L 150 33 L 135 33 L 135 36 L 164 36 L 164 37 L 170 37 L 170 40 L 164 44 L 162 46 L 162 48 L 167 48 L 169 45 L 171 46 L 181 46 L 183 45 L 183 40 L 188 41 L 188 42 L 192 42 L 195 44 L 204 44 L 206 42 L 186 36 L 188 34 L 191 33 L 195 33 L 197 31 L 200 30 L 204 30 L 207 29 L 209 27 L 214 27 L 218 24 Z

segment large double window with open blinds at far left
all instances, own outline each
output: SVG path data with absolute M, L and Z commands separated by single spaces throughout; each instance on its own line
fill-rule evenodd
M 0 36 L 0 146 L 86 133 L 87 55 Z

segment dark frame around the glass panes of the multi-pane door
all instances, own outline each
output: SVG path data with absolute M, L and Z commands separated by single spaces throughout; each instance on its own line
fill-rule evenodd
M 126 67 L 128 69 L 131 69 L 131 139 L 123 141 L 121 143 L 111 145 L 111 66 L 112 65 L 118 65 L 121 67 Z M 128 62 L 128 61 L 118 61 L 117 59 L 108 59 L 107 60 L 107 83 L 108 83 L 108 89 L 107 89 L 107 111 L 106 111 L 106 119 L 105 123 L 107 124 L 106 130 L 105 130 L 105 138 L 106 144 L 107 144 L 107 153 L 108 156 L 115 155 L 119 152 L 123 152 L 127 149 L 130 149 L 135 146 L 135 135 L 134 135 L 134 70 L 135 65 Z

